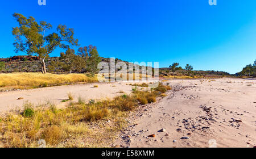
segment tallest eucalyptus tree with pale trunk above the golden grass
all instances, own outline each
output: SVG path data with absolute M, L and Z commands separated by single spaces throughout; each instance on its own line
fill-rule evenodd
M 13 17 L 19 24 L 13 28 L 15 52 L 22 51 L 28 55 L 38 56 L 43 74 L 47 73 L 45 60 L 57 47 L 67 49 L 69 45 L 79 45 L 78 40 L 73 37 L 73 28 L 60 24 L 57 32 L 46 34 L 52 29 L 51 24 L 44 21 L 38 23 L 32 16 L 26 18 L 19 13 L 14 13 Z

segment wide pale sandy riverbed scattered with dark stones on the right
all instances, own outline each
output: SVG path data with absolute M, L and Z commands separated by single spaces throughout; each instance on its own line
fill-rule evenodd
M 130 115 L 129 127 L 119 135 L 117 147 L 256 145 L 256 80 L 168 83 L 173 90 L 167 97 Z M 148 137 L 152 134 L 155 137 Z

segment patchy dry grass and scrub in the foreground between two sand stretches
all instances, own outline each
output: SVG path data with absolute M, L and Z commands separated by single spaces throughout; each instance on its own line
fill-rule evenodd
M 48 109 L 25 105 L 23 114 L 13 112 L 0 118 L 0 147 L 38 147 L 40 139 L 46 140 L 47 147 L 109 147 L 126 127 L 129 111 L 155 102 L 157 94 L 157 90 L 135 90 L 101 102 L 80 99 L 63 109 L 51 103 Z

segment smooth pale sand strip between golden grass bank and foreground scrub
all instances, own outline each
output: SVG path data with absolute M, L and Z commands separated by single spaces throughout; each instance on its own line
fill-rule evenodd
M 67 105 L 69 102 L 61 102 L 68 99 L 68 93 L 73 94 L 73 101 L 77 102 L 78 97 L 81 97 L 85 102 L 94 100 L 103 100 L 106 98 L 112 99 L 123 91 L 130 94 L 134 86 L 126 84 L 138 82 L 113 82 L 113 83 L 90 83 L 83 85 L 69 85 L 44 87 L 41 89 L 20 90 L 0 93 L 0 112 L 10 110 L 18 110 L 22 108 L 26 102 L 33 103 L 35 106 L 46 104 L 47 101 L 55 103 L 58 107 Z M 94 87 L 98 85 L 98 87 Z M 18 100 L 18 98 L 22 98 Z

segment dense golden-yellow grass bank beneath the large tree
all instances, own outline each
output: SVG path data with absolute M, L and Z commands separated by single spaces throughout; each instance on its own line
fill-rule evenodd
M 71 83 L 97 82 L 97 76 L 86 74 L 42 74 L 42 73 L 7 73 L 0 74 L 0 87 L 6 89 L 31 89 Z

